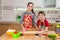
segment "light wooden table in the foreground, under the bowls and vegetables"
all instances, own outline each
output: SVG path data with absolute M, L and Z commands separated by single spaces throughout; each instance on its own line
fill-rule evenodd
M 26 31 L 26 32 L 22 32 L 25 35 L 19 37 L 19 38 L 12 38 L 9 37 L 6 33 L 3 34 L 2 36 L 0 36 L 0 40 L 45 40 L 44 38 L 40 37 L 40 36 L 36 36 L 34 35 L 36 33 L 36 31 Z M 38 32 L 40 33 L 40 32 Z M 29 36 L 30 35 L 30 36 Z M 47 39 L 46 39 L 47 40 Z

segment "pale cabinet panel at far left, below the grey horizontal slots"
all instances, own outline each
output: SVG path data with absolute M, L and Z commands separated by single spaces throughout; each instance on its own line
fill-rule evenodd
M 4 10 L 3 11 L 3 21 L 16 21 L 16 13 L 15 11 L 8 11 L 8 10 Z

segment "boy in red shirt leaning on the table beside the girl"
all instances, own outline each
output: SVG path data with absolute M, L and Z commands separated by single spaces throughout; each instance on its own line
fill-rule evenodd
M 49 23 L 45 18 L 45 13 L 40 11 L 38 13 L 37 28 L 41 31 L 48 31 Z

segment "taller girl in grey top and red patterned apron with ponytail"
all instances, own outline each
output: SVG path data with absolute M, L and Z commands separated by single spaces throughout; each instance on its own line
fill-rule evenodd
M 27 4 L 27 11 L 23 13 L 21 18 L 21 25 L 23 26 L 23 30 L 26 31 L 28 29 L 33 28 L 35 25 L 34 23 L 34 10 L 33 10 L 34 4 L 32 2 L 29 2 Z

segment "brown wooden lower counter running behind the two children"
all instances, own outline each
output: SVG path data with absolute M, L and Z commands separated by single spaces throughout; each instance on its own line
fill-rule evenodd
M 49 31 L 55 31 L 55 27 L 56 27 L 56 23 L 50 23 Z M 2 21 L 0 22 L 0 36 L 3 35 L 9 28 L 15 29 L 17 31 L 23 30 L 19 22 Z M 32 30 L 35 30 L 35 29 L 32 29 Z

